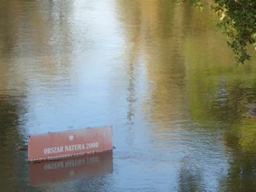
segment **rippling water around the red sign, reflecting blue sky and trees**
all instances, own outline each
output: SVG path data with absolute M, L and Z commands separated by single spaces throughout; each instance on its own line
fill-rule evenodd
M 0 190 L 255 191 L 255 55 L 236 66 L 217 20 L 168 0 L 1 1 Z M 104 157 L 31 176 L 17 151 L 29 134 L 102 125 Z M 73 180 L 40 172 L 84 161 Z

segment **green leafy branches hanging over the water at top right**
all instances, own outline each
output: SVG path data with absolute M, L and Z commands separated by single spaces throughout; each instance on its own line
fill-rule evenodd
M 178 0 L 190 2 L 202 9 L 201 0 Z M 250 59 L 247 45 L 256 49 L 256 1 L 255 0 L 212 0 L 212 9 L 220 16 L 217 24 L 228 37 L 228 46 L 233 49 L 237 63 Z

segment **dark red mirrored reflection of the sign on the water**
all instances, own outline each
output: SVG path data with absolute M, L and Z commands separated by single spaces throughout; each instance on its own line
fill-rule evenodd
M 30 185 L 87 179 L 105 176 L 112 172 L 112 151 L 65 158 L 57 161 L 29 162 Z

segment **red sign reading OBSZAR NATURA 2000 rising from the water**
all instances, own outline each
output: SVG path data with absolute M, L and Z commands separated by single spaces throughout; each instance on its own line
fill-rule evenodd
M 77 157 L 86 153 L 112 150 L 112 148 L 111 126 L 30 135 L 28 161 Z

